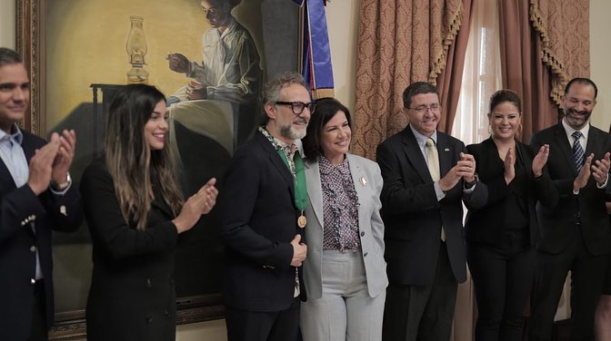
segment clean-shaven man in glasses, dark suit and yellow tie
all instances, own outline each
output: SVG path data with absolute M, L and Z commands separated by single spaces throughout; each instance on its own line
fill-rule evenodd
M 377 147 L 390 282 L 382 338 L 449 340 L 457 285 L 466 280 L 461 201 L 481 207 L 487 190 L 465 144 L 436 130 L 436 87 L 413 83 L 403 103 L 409 124 Z

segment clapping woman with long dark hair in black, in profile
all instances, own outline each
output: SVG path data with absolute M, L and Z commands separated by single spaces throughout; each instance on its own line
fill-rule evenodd
M 81 192 L 93 240 L 89 340 L 174 340 L 174 249 L 215 205 L 215 179 L 183 200 L 167 147 L 165 96 L 127 85 L 110 106 L 103 159 Z

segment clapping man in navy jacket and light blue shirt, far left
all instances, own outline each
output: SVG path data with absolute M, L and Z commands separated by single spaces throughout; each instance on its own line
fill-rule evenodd
M 19 54 L 0 47 L 3 340 L 47 338 L 54 317 L 51 230 L 75 230 L 83 219 L 80 196 L 68 174 L 75 153 L 75 132 L 53 133 L 46 143 L 17 126 L 29 105 L 29 85 Z

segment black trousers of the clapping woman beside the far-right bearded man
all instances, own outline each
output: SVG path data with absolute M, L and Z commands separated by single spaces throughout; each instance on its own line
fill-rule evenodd
M 466 259 L 477 300 L 477 341 L 520 341 L 533 285 L 535 250 L 525 233 L 505 233 L 500 246 L 469 242 Z

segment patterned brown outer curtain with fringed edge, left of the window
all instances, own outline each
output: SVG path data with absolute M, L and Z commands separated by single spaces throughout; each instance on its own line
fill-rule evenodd
M 356 154 L 375 159 L 377 145 L 406 127 L 401 94 L 410 83 L 436 83 L 444 73 L 448 50 L 464 15 L 461 0 L 361 1 L 353 132 Z

